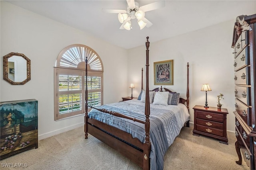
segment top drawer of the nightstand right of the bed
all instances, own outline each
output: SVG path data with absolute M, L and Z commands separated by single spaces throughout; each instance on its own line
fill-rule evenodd
M 218 113 L 210 113 L 205 111 L 197 111 L 196 118 L 209 120 L 209 121 L 218 121 L 223 123 L 224 122 L 224 115 Z

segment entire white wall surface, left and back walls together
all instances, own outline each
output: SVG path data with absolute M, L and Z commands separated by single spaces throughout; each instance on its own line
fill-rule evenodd
M 53 67 L 60 51 L 68 45 L 84 44 L 99 54 L 104 64 L 104 104 L 118 102 L 122 97 L 130 96 L 131 89 L 128 87 L 132 82 L 135 85 L 133 96 L 138 96 L 142 67 L 145 75 L 145 45 L 125 50 L 8 2 L 1 1 L 0 4 L 0 55 L 18 52 L 25 54 L 31 60 L 31 80 L 22 86 L 10 85 L 4 81 L 3 70 L 0 69 L 0 101 L 37 99 L 39 139 L 83 125 L 83 116 L 54 121 Z M 192 107 L 205 103 L 205 92 L 200 91 L 202 84 L 209 83 L 212 88 L 212 91 L 208 92 L 209 106 L 216 107 L 216 96 L 219 93 L 224 94 L 224 100 L 221 102 L 224 104 L 222 107 L 229 111 L 228 131 L 234 131 L 235 126 L 235 117 L 232 113 L 234 111 L 234 58 L 231 49 L 233 27 L 234 21 L 228 21 L 150 43 L 149 47 L 150 89 L 159 87 L 154 86 L 153 63 L 173 59 L 174 85 L 163 87 L 180 92 L 181 96 L 186 98 L 186 63 L 188 62 L 191 122 L 194 122 Z M 149 41 L 154 40 L 149 38 Z M 2 59 L 0 62 L 2 65 Z M 14 95 L 10 95 L 10 92 Z

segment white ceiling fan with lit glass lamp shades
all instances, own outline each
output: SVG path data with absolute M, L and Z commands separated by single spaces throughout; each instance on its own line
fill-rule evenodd
M 145 26 L 151 27 L 153 23 L 148 21 L 145 18 L 145 12 L 156 10 L 158 8 L 162 8 L 165 6 L 164 0 L 153 2 L 151 4 L 147 4 L 141 7 L 139 7 L 139 3 L 135 2 L 134 0 L 126 0 L 126 1 L 128 4 L 127 10 L 102 9 L 102 11 L 106 13 L 118 14 L 118 20 L 120 23 L 122 23 L 119 29 L 127 29 L 127 30 L 132 29 L 131 20 L 135 18 L 138 20 L 138 25 L 140 26 L 140 29 L 143 29 Z

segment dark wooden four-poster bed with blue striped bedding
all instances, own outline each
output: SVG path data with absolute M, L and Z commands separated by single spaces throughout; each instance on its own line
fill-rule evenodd
M 149 170 L 150 168 L 155 170 L 163 169 L 164 154 L 168 147 L 178 136 L 184 124 L 189 126 L 189 65 L 187 64 L 187 99 L 179 98 L 178 95 L 179 102 L 175 105 L 169 105 L 169 102 L 168 105 L 154 104 L 157 100 L 157 94 L 165 93 L 165 98 L 168 95 L 168 101 L 171 102 L 172 95 L 174 96 L 176 93 L 167 88 L 164 88 L 165 92 L 162 92 L 162 86 L 160 90 L 159 88 L 149 90 L 148 48 L 150 42 L 148 37 L 146 38 L 146 90 L 142 90 L 141 100 L 133 99 L 99 107 L 88 106 L 86 59 L 84 132 L 85 139 L 88 138 L 88 133 L 90 133 L 138 164 L 143 170 Z M 152 102 L 154 94 L 155 100 Z M 88 107 L 92 107 L 89 113 Z

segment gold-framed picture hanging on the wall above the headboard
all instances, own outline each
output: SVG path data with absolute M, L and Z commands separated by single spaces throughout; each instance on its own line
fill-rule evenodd
M 154 85 L 173 85 L 173 60 L 154 62 Z

